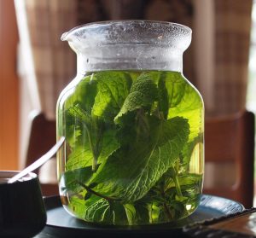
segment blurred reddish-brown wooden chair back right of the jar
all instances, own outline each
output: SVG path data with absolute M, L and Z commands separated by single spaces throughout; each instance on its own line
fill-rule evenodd
M 237 200 L 247 208 L 253 206 L 254 123 L 254 114 L 247 111 L 206 119 L 206 167 L 211 164 L 216 167 L 212 177 L 205 172 L 205 194 Z

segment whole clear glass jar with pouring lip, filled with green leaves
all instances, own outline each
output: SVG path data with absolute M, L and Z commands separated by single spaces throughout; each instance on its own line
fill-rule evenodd
M 91 23 L 63 34 L 78 56 L 57 103 L 62 204 L 91 223 L 185 218 L 199 205 L 204 107 L 183 76 L 191 30 L 175 23 Z

